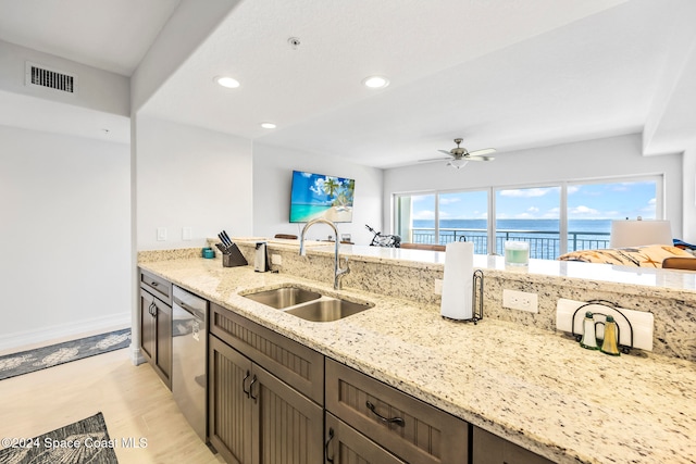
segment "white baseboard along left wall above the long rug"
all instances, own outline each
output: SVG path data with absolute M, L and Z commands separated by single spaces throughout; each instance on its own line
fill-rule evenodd
M 39 348 L 61 341 L 88 337 L 90 335 L 119 330 L 121 328 L 130 327 L 130 325 L 132 316 L 128 312 L 60 324 L 37 330 L 23 330 L 0 336 L 0 351 L 7 351 L 20 347 L 26 349 Z

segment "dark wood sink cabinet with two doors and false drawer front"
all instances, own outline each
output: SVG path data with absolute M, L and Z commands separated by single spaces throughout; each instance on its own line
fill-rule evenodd
M 316 393 L 315 387 L 308 388 L 309 364 L 302 360 L 309 354 L 315 367 L 321 364 L 323 375 L 323 356 L 266 330 L 211 304 L 210 441 L 228 463 L 319 463 L 323 459 L 322 404 L 271 369 Z M 323 403 L 323 377 L 314 380 Z

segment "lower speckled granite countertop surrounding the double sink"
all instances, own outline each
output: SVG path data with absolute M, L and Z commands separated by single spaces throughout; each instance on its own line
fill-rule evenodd
M 450 322 L 436 305 L 358 290 L 338 293 L 373 309 L 312 323 L 239 292 L 298 284 L 336 294 L 330 285 L 223 268 L 219 260 L 140 266 L 555 462 L 696 462 L 692 362 L 612 358 L 564 335 L 487 318 Z

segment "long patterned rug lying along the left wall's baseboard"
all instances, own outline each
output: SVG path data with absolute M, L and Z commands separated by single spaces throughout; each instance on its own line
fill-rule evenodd
M 78 340 L 64 341 L 50 347 L 5 354 L 0 356 L 0 380 L 120 350 L 129 344 L 130 329 L 124 328 Z

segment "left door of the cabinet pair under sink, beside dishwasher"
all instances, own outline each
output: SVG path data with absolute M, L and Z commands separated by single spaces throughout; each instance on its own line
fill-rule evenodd
M 229 464 L 251 463 L 251 361 L 208 338 L 208 432 Z

